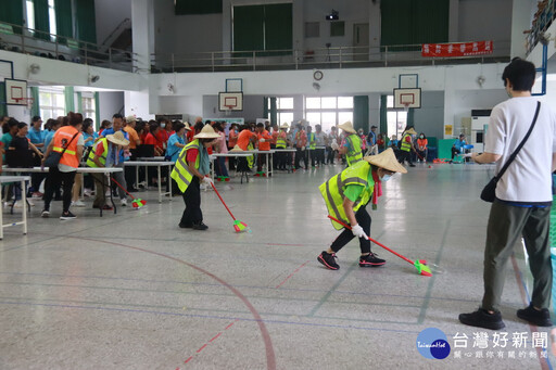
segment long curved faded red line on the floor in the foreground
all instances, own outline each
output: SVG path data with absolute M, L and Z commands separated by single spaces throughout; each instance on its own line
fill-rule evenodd
M 179 259 L 177 257 L 173 257 L 173 256 L 169 256 L 169 255 L 164 254 L 164 253 L 146 250 L 146 248 L 142 248 L 142 247 L 139 247 L 139 246 L 132 246 L 132 245 L 127 245 L 127 244 L 122 244 L 122 243 L 109 242 L 109 241 L 93 239 L 93 238 L 70 237 L 70 235 L 66 235 L 66 238 L 79 239 L 79 240 L 88 240 L 88 241 L 91 241 L 91 242 L 105 243 L 105 244 L 110 244 L 110 245 L 126 247 L 126 248 L 129 248 L 129 250 L 135 250 L 135 251 L 144 252 L 144 253 L 150 253 L 150 254 L 153 254 L 155 256 L 164 257 L 164 258 L 167 258 L 167 259 L 172 259 L 172 260 L 177 261 L 179 264 L 189 266 L 190 268 L 192 268 L 192 269 L 194 269 L 194 270 L 197 270 L 197 271 L 199 271 L 201 273 L 204 273 L 204 275 L 208 276 L 210 278 L 216 280 L 217 282 L 219 282 L 220 284 L 226 286 L 228 290 L 230 290 L 238 298 L 240 298 L 241 302 L 243 302 L 243 304 L 251 311 L 251 315 L 253 315 L 253 318 L 255 319 L 255 321 L 256 321 L 256 323 L 258 326 L 258 330 L 261 331 L 261 336 L 263 337 L 263 343 L 265 344 L 266 368 L 269 369 L 269 370 L 275 370 L 276 369 L 276 355 L 274 353 L 273 341 L 270 339 L 270 334 L 268 333 L 268 330 L 266 329 L 266 324 L 263 321 L 263 318 L 261 317 L 258 311 L 255 309 L 255 307 L 251 304 L 251 302 L 249 302 L 249 299 L 238 289 L 236 289 L 235 286 L 230 285 L 228 282 L 224 281 L 223 279 L 218 278 L 214 273 L 212 273 L 212 272 L 210 272 L 210 271 L 207 271 L 207 270 L 205 270 L 205 269 L 203 269 L 203 268 L 201 268 L 199 266 L 195 266 L 193 264 L 185 261 L 184 259 Z

